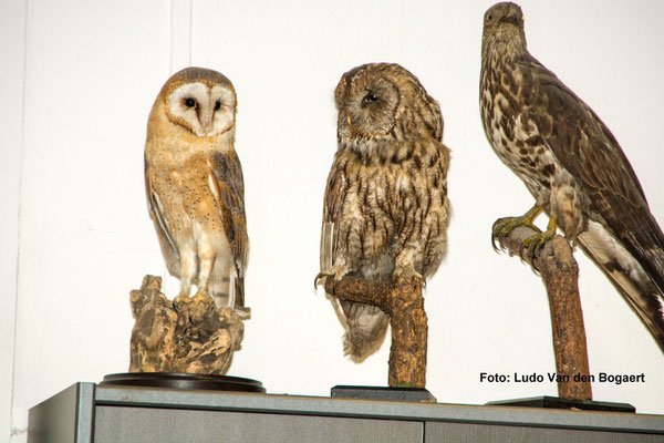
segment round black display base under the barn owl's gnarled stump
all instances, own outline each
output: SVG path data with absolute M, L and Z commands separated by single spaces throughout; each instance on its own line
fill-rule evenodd
M 176 372 L 122 372 L 105 375 L 100 384 L 266 393 L 257 380 Z

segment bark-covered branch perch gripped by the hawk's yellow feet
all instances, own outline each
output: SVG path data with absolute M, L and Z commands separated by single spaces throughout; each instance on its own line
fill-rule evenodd
M 579 266 L 569 243 L 559 235 L 547 241 L 531 258 L 528 248 L 523 247 L 523 240 L 536 234 L 527 226 L 519 226 L 509 235 L 499 236 L 498 241 L 510 255 L 518 255 L 538 271 L 547 288 L 556 370 L 558 375 L 568 375 L 561 378 L 568 381 L 558 382 L 558 395 L 592 400 L 590 382 L 581 381 L 581 378 L 574 381 L 575 375 L 585 375 L 585 380 L 590 375 L 583 311 L 579 298 Z

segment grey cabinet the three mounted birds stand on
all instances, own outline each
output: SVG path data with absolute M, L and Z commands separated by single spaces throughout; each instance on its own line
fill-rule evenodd
M 76 383 L 30 410 L 29 443 L 663 442 L 664 416 Z

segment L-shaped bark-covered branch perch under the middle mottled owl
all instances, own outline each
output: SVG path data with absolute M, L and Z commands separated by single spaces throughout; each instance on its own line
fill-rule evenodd
M 328 278 L 325 291 L 341 300 L 377 306 L 386 312 L 392 327 L 387 384 L 425 387 L 428 327 L 421 282 L 370 282 L 352 277 L 335 282 Z

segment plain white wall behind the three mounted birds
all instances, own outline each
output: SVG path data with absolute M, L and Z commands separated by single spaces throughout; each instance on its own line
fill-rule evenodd
M 664 223 L 664 3 L 578 3 L 522 1 L 529 49 L 612 128 Z M 0 337 L 8 337 L 0 344 L 8 362 L 0 365 L 0 441 L 11 429 L 24 441 L 28 409 L 71 383 L 127 370 L 128 291 L 144 274 L 166 274 L 145 207 L 145 124 L 162 84 L 189 62 L 225 73 L 239 100 L 253 318 L 229 374 L 290 394 L 386 383 L 388 344 L 361 365 L 344 360 L 341 326 L 312 282 L 335 151 L 332 91 L 346 70 L 392 61 L 439 101 L 453 150 L 449 255 L 426 292 L 427 388 L 455 403 L 554 395 L 552 383 L 479 382 L 481 371 L 554 370 L 539 278 L 489 244 L 497 217 L 532 204 L 479 120 L 481 18 L 490 4 L 1 3 L 2 41 L 17 44 L 0 49 L 0 241 L 9 246 L 0 255 Z M 577 258 L 591 372 L 644 372 L 646 380 L 595 383 L 595 400 L 664 413 L 664 356 L 601 272 Z M 167 293 L 177 287 L 166 279 Z

